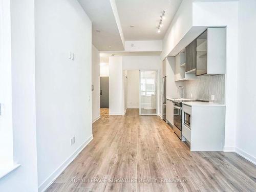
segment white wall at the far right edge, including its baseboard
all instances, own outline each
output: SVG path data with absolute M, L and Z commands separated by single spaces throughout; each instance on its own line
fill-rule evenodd
M 256 1 L 239 1 L 236 151 L 256 164 Z M 247 103 L 244 100 L 248 101 Z

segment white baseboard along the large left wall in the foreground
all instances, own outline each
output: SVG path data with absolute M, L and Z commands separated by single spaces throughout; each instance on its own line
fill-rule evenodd
M 72 161 L 81 153 L 84 147 L 86 147 L 93 140 L 93 135 L 91 135 L 83 144 L 81 144 L 77 150 L 66 159 L 42 184 L 39 185 L 38 191 L 46 191 L 46 189 L 57 179 L 57 177 L 67 168 L 67 166 L 72 163 Z

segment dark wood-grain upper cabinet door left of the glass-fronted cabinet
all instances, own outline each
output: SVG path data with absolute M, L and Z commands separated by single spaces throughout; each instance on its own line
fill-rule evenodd
M 185 72 L 186 73 L 196 72 L 196 62 L 197 62 L 196 46 L 197 46 L 197 41 L 195 39 L 185 48 L 185 54 L 186 54 Z

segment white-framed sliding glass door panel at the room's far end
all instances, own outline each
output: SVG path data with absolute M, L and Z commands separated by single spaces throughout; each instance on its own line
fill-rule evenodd
M 157 114 L 157 71 L 140 70 L 140 115 Z

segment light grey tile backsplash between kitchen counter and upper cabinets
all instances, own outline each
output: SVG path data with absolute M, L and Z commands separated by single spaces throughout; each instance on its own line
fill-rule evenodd
M 184 82 L 185 98 L 202 99 L 224 104 L 225 102 L 225 75 L 197 77 Z M 215 95 L 214 101 L 211 95 Z

